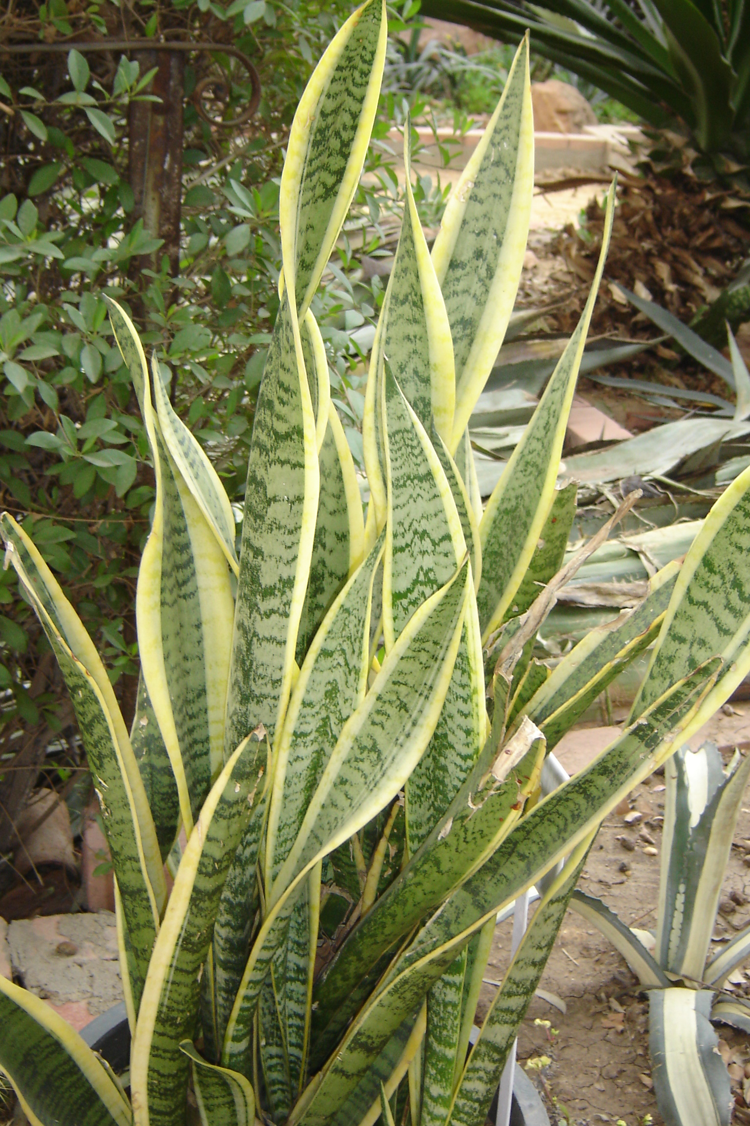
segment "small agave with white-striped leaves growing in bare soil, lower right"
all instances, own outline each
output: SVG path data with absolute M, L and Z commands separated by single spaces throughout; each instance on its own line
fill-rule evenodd
M 653 1087 L 668 1126 L 729 1126 L 731 1119 L 730 1078 L 711 1021 L 750 1031 L 750 1006 L 722 991 L 750 955 L 750 927 L 712 958 L 708 949 L 749 777 L 750 757 L 735 751 L 724 769 L 713 743 L 680 748 L 667 762 L 656 935 L 631 930 L 585 892 L 571 900 L 648 991 Z

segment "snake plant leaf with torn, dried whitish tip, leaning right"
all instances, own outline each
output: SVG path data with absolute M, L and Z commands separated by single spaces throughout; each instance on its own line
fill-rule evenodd
M 363 1000 L 359 989 L 368 972 L 442 899 L 481 868 L 517 824 L 527 796 L 539 787 L 543 759 L 544 742 L 532 723 L 523 724 L 501 749 L 491 736 L 487 740 L 444 816 L 352 930 L 317 983 L 316 1052 L 333 1049 Z

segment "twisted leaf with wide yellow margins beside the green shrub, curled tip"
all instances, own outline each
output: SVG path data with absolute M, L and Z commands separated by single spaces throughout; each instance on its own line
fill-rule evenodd
M 135 328 L 115 302 L 109 310 L 141 402 L 156 476 L 154 519 L 136 591 L 141 671 L 189 834 L 224 753 L 224 700 L 234 617 L 227 553 L 232 556 L 234 552 L 234 517 L 205 454 L 198 455 L 195 438 L 169 408 L 154 360 L 157 418 Z M 187 477 L 168 449 L 162 420 Z M 232 531 L 227 529 L 229 519 Z M 192 638 L 190 645 L 184 644 L 186 636 Z

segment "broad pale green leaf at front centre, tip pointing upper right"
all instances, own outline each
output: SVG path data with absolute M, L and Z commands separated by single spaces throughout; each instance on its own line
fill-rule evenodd
M 440 717 L 471 593 L 467 564 L 413 614 L 344 724 L 269 893 L 271 903 L 299 872 L 367 824 L 403 788 Z

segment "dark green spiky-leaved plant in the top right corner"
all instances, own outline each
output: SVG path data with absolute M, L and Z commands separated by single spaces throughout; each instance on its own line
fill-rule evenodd
M 517 43 L 606 90 L 704 153 L 750 157 L 750 14 L 743 0 L 424 0 L 422 14 Z

